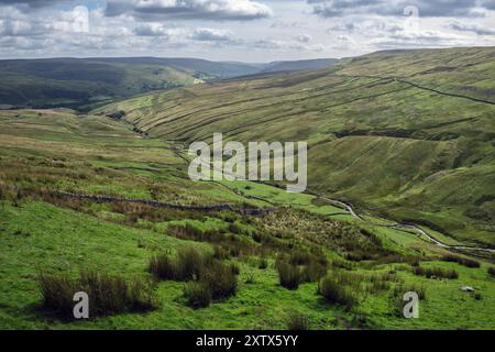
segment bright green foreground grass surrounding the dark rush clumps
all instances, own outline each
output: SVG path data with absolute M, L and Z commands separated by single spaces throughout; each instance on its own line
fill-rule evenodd
M 0 323 L 2 328 L 41 329 L 284 329 L 288 307 L 309 317 L 317 329 L 342 329 L 349 315 L 339 307 L 328 306 L 316 295 L 316 284 L 304 284 L 297 292 L 277 286 L 273 264 L 265 271 L 241 263 L 240 289 L 237 297 L 208 309 L 185 307 L 179 283 L 162 283 L 158 296 L 163 308 L 145 315 L 124 314 L 98 318 L 88 322 L 50 320 L 35 309 L 40 295 L 34 283 L 37 270 L 77 275 L 79 268 L 99 270 L 124 275 L 145 276 L 147 258 L 156 251 L 175 250 L 183 245 L 201 246 L 152 231 L 136 230 L 99 221 L 70 210 L 29 202 L 20 208 L 2 202 L 0 213 L 2 255 L 0 280 Z M 61 231 L 64 223 L 65 231 Z M 18 232 L 21 234 L 16 234 Z M 146 248 L 138 246 L 144 241 Z M 427 300 L 421 301 L 420 319 L 406 320 L 389 316 L 386 293 L 365 297 L 355 315 L 365 315 L 370 327 L 382 328 L 493 328 L 493 290 L 495 283 L 487 280 L 486 267 L 470 270 L 451 263 L 435 262 L 432 266 L 455 267 L 458 280 L 428 280 L 399 272 L 409 282 L 427 286 Z M 381 268 L 385 271 L 387 266 Z M 249 274 L 254 284 L 245 284 Z M 365 272 L 363 272 L 365 273 Z M 483 299 L 460 292 L 461 285 L 476 288 Z M 455 309 L 451 304 L 455 301 Z M 336 320 L 336 318 L 339 318 Z

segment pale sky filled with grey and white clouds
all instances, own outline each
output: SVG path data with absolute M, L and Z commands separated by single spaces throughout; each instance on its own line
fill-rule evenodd
M 495 45 L 495 0 L 0 0 L 0 58 L 270 62 Z

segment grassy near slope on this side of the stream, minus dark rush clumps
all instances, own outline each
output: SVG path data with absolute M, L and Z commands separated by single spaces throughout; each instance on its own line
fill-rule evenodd
M 356 219 L 316 196 L 255 183 L 191 183 L 173 142 L 125 121 L 54 109 L 0 111 L 0 124 L 2 329 L 288 329 L 296 312 L 319 330 L 495 328 L 493 257 L 479 258 L 480 267 L 446 262 L 449 251 L 417 234 L 375 226 L 385 220 L 373 215 L 371 222 Z M 155 209 L 55 191 L 274 211 Z M 235 294 L 194 309 L 184 296 L 188 283 L 150 273 L 153 256 L 185 248 L 237 265 Z M 283 264 L 304 274 L 297 289 L 280 285 Z M 458 278 L 416 275 L 418 265 Z M 150 279 L 158 305 L 87 321 L 46 311 L 40 273 L 74 279 L 84 271 Z M 318 294 L 327 273 L 345 278 L 352 306 Z M 419 319 L 398 309 L 397 298 L 410 289 L 425 290 Z

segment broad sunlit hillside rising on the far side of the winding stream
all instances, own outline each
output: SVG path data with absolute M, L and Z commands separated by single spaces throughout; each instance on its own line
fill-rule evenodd
M 309 142 L 312 191 L 460 241 L 495 244 L 495 48 L 378 52 L 322 70 L 156 92 L 125 111 L 151 136 Z

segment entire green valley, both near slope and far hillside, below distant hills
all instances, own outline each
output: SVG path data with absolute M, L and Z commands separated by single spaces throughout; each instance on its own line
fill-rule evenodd
M 0 110 L 0 328 L 494 329 L 494 57 L 378 52 Z M 188 144 L 215 132 L 308 141 L 308 191 L 191 182 Z M 88 320 L 67 310 L 80 287 Z

